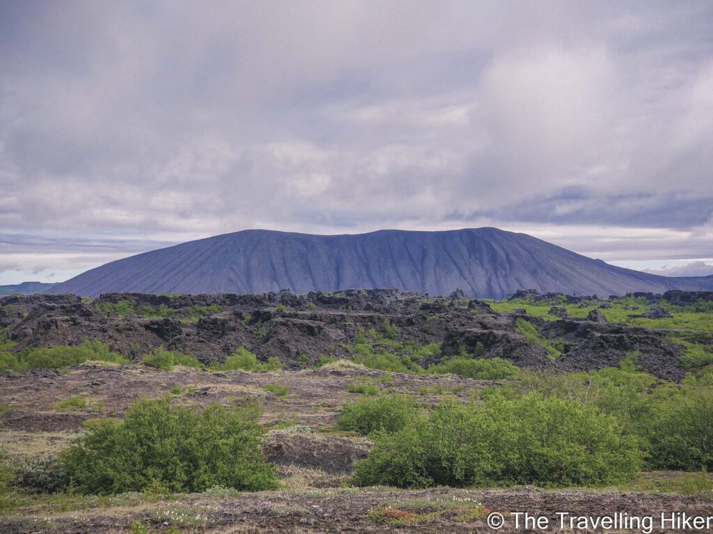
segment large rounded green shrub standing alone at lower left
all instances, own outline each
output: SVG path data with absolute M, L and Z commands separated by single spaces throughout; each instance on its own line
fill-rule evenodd
M 108 495 L 160 487 L 200 492 L 212 486 L 244 491 L 277 488 L 275 469 L 262 458 L 260 412 L 217 404 L 199 413 L 166 400 L 140 401 L 123 421 L 88 428 L 62 453 L 68 486 Z

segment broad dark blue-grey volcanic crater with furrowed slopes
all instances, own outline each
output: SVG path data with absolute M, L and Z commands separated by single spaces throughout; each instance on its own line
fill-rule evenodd
M 709 289 L 713 277 L 673 278 L 608 265 L 496 228 L 359 235 L 245 230 L 111 262 L 49 293 L 258 293 L 396 287 L 501 298 L 517 289 L 567 294 Z

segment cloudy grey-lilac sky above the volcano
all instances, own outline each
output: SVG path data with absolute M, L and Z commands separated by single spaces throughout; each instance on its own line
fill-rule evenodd
M 0 284 L 482 226 L 713 274 L 713 3 L 0 0 Z

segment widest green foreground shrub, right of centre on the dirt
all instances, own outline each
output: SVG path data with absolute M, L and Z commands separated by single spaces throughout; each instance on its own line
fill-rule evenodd
M 615 418 L 540 396 L 443 403 L 372 438 L 376 446 L 355 465 L 358 486 L 593 486 L 628 481 L 642 464 L 637 441 Z

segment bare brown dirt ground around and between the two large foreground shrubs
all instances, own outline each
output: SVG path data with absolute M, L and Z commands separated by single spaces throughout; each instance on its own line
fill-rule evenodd
M 368 369 L 312 369 L 266 373 L 158 371 L 143 365 L 85 364 L 68 372 L 35 370 L 0 376 L 0 444 L 11 456 L 56 454 L 96 417 L 120 417 L 142 397 L 170 395 L 176 404 L 230 404 L 255 399 L 270 428 L 266 456 L 277 463 L 281 491 L 202 493 L 157 497 L 28 497 L 0 518 L 0 533 L 128 533 L 135 521 L 150 532 L 171 526 L 180 533 L 478 533 L 496 511 L 506 518 L 500 532 L 514 532 L 513 513 L 545 515 L 713 515 L 713 497 L 607 491 L 544 491 L 535 488 L 460 490 L 346 488 L 353 461 L 370 443 L 332 431 L 339 406 L 359 395 L 347 391 L 362 381 L 383 391 L 409 393 L 424 403 L 443 396 L 466 400 L 492 384 L 458 376 L 386 374 Z M 285 396 L 265 389 L 287 386 Z M 59 409 L 80 396 L 84 409 Z M 661 475 L 661 476 L 666 476 Z M 559 530 L 551 527 L 549 530 Z M 664 531 L 655 529 L 655 531 Z

